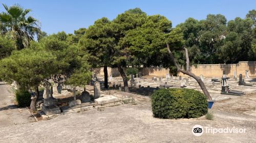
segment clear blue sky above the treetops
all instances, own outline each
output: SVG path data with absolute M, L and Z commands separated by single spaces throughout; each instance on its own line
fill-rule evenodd
M 112 0 L 112 1 L 59 1 L 59 0 L 1 0 L 11 6 L 19 4 L 30 8 L 31 13 L 41 22 L 41 30 L 48 34 L 65 31 L 73 33 L 79 28 L 88 28 L 101 17 L 114 19 L 118 14 L 131 8 L 140 8 L 148 15 L 161 14 L 173 22 L 173 27 L 188 17 L 205 19 L 207 14 L 223 14 L 227 20 L 244 18 L 249 10 L 256 9 L 256 1 L 251 0 L 191 0 L 191 1 L 151 1 L 151 0 Z M 0 12 L 4 10 L 0 6 Z

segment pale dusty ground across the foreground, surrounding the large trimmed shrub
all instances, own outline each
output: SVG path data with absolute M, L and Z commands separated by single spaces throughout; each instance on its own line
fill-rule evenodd
M 145 98 L 146 100 L 141 100 Z M 256 116 L 242 112 L 256 106 L 256 93 L 216 102 L 214 120 L 166 120 L 153 117 L 148 97 L 137 105 L 123 104 L 60 114 L 51 120 L 1 126 L 0 142 L 256 142 Z M 245 128 L 245 133 L 203 133 L 194 125 Z

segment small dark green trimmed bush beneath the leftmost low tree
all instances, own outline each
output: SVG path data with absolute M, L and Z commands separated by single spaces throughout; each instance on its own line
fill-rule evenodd
M 16 101 L 19 107 L 30 106 L 31 94 L 27 90 L 17 90 Z

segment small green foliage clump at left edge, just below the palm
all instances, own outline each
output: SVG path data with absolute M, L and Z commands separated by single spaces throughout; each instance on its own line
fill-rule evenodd
M 10 56 L 13 50 L 15 50 L 15 43 L 0 35 L 0 60 Z

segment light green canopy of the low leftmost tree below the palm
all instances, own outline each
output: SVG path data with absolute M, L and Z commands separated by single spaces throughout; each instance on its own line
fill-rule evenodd
M 0 61 L 0 78 L 24 89 L 36 87 L 55 71 L 56 58 L 47 51 L 23 49 Z

